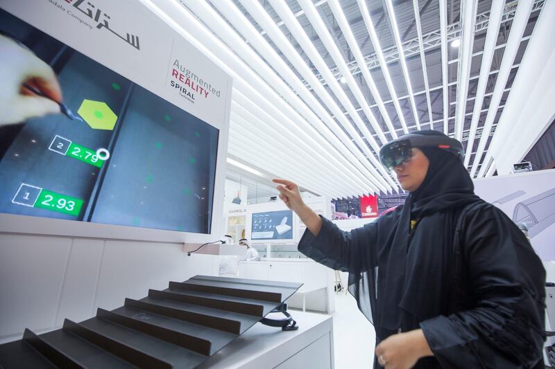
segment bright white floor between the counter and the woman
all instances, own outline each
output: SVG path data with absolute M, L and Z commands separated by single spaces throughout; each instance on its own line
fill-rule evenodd
M 374 362 L 375 332 L 373 325 L 359 311 L 349 293 L 335 296 L 334 359 L 336 369 L 370 369 Z

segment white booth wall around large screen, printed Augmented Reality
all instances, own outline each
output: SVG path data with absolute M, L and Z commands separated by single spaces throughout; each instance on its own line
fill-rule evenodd
M 199 243 L 218 240 L 224 233 L 223 191 L 232 79 L 192 46 L 182 30 L 174 30 L 148 5 L 138 1 L 0 0 L 0 11 L 4 18 L 12 19 L 9 24 L 31 24 L 69 46 L 69 50 L 75 51 L 74 55 L 80 53 L 87 63 L 109 69 L 126 83 L 135 84 L 133 91 L 146 91 L 149 96 L 157 96 L 161 104 L 171 105 L 171 109 L 187 111 L 194 119 L 214 127 L 218 134 L 214 183 L 210 183 L 213 204 L 208 210 L 212 226 L 208 233 L 0 213 L 0 343 L 3 343 L 20 339 L 25 327 L 40 334 L 59 328 L 64 318 L 83 321 L 96 314 L 97 307 L 114 309 L 123 305 L 125 297 L 142 298 L 148 289 L 164 289 L 169 280 L 187 280 L 197 273 L 187 260 L 187 253 L 183 252 L 184 243 L 190 244 L 191 249 Z M 9 25 L 8 22 L 0 23 L 3 23 L 0 28 Z M 202 79 L 210 81 L 214 89 L 200 91 L 197 85 L 198 91 L 191 92 L 190 83 L 186 86 L 188 91 L 178 89 L 176 81 L 183 87 L 185 79 L 178 81 L 179 74 L 176 77 L 174 69 L 190 74 L 198 83 L 202 83 Z M 86 71 L 78 77 L 89 78 L 87 81 L 91 84 L 101 79 Z M 62 81 L 62 88 L 64 83 Z M 121 82 L 112 85 L 114 90 L 120 86 L 123 91 Z M 79 88 L 66 93 L 65 101 L 71 101 Z M 76 107 L 71 109 L 77 111 Z M 173 116 L 171 123 L 178 123 L 178 115 Z M 66 119 L 61 114 L 58 116 L 60 121 Z M 184 112 L 183 116 L 188 115 Z M 169 124 L 169 118 L 164 120 L 162 114 L 162 124 L 165 121 Z M 85 125 L 71 124 L 74 125 L 71 127 Z M 194 133 L 192 131 L 191 135 Z M 167 143 L 176 139 L 171 130 L 165 137 Z M 145 147 L 141 152 L 129 152 L 129 160 L 139 159 L 134 170 L 142 170 L 139 164 L 148 164 L 149 155 L 155 155 L 155 150 L 171 149 L 167 143 Z M 44 145 L 48 147 L 48 143 Z M 45 156 L 65 159 L 46 149 L 44 152 Z M 202 158 L 198 158 L 196 164 L 200 161 Z M 80 163 L 79 168 L 94 170 L 82 161 L 67 159 L 65 163 Z M 169 167 L 169 173 L 175 170 L 172 165 Z M 156 180 L 149 182 L 154 186 Z M 12 191 L 9 192 L 0 195 L 11 198 Z M 196 200 L 192 190 L 186 189 L 183 195 L 195 201 L 201 199 L 199 195 Z M 160 197 L 163 196 L 164 193 L 160 193 Z M 10 201 L 7 202 L 10 205 Z M 5 201 L 1 206 L 4 205 Z M 187 212 L 187 208 L 184 207 L 183 212 Z

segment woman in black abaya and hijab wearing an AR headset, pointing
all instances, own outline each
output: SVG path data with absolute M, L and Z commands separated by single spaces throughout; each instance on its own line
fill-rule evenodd
M 379 159 L 409 196 L 350 232 L 274 180 L 307 226 L 299 251 L 349 272 L 375 327 L 374 368 L 544 368 L 545 269 L 512 220 L 475 195 L 463 154 L 437 131 L 384 145 Z

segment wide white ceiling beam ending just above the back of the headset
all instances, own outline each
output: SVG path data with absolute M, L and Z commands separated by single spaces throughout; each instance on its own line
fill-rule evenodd
M 456 75 L 459 83 L 456 85 L 455 127 L 454 138 L 461 141 L 466 113 L 466 98 L 468 97 L 468 78 L 472 66 L 472 46 L 474 45 L 474 22 L 476 20 L 478 1 L 462 0 L 461 2 L 461 45 L 459 46 L 459 69 Z

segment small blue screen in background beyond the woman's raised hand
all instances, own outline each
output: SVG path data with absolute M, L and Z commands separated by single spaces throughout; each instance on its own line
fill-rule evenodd
M 262 240 L 292 240 L 293 211 L 278 210 L 266 213 L 253 213 L 250 238 Z

